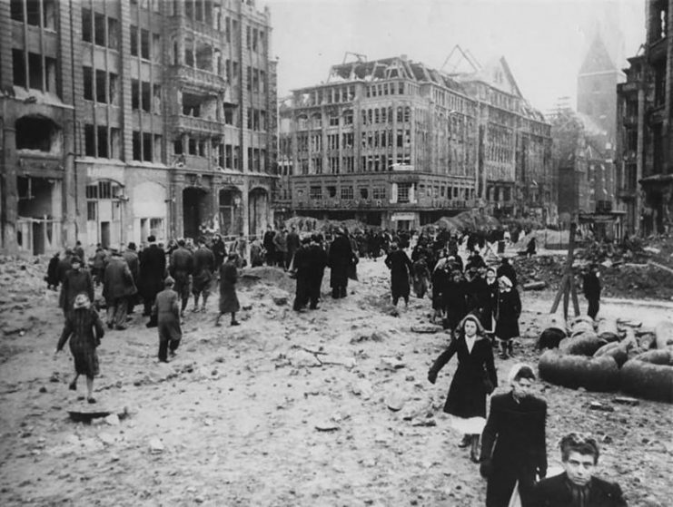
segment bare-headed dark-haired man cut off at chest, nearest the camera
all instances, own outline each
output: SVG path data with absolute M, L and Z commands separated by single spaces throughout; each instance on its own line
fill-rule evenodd
M 588 435 L 571 433 L 560 441 L 564 472 L 540 481 L 531 493 L 535 507 L 626 507 L 618 483 L 594 475 L 599 444 Z

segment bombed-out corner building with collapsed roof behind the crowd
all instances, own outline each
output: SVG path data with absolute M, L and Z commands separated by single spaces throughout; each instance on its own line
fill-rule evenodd
M 405 56 L 332 66 L 282 103 L 293 213 L 414 228 L 461 210 L 553 219 L 549 123 L 500 59 L 465 74 Z

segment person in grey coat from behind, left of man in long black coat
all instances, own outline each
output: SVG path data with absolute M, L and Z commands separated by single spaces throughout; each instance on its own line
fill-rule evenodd
M 134 276 L 118 249 L 111 249 L 110 261 L 105 267 L 103 297 L 107 304 L 107 327 L 117 330 L 126 329 L 128 297 L 137 289 Z

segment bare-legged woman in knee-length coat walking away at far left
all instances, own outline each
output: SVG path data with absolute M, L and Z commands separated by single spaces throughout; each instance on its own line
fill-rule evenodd
M 65 342 L 70 339 L 70 352 L 74 357 L 74 379 L 70 389 L 77 388 L 79 375 L 86 375 L 86 399 L 95 403 L 94 376 L 99 374 L 98 356 L 95 349 L 101 343 L 105 332 L 98 312 L 91 307 L 91 300 L 82 292 L 74 297 L 73 310 L 65 317 L 65 325 L 61 338 L 56 346 L 56 353 L 63 350 Z M 83 398 L 84 399 L 84 398 Z

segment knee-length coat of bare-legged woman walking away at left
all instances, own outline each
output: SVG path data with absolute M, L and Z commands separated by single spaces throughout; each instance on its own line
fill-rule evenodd
M 56 350 L 62 350 L 70 339 L 74 371 L 79 375 L 98 375 L 98 356 L 95 349 L 104 336 L 103 323 L 94 308 L 78 308 L 65 317 L 65 325 Z

